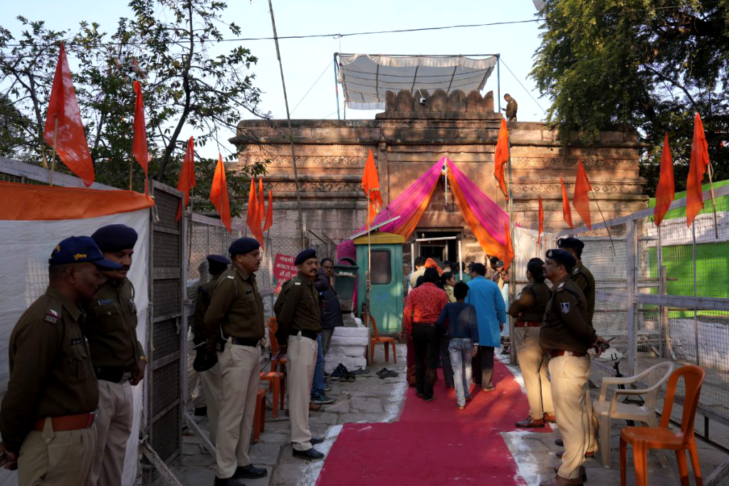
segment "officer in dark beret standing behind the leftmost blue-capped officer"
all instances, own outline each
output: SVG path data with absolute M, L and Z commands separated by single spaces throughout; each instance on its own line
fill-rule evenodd
M 91 485 L 120 486 L 127 441 L 132 431 L 132 386 L 144 378 L 147 357 L 136 336 L 134 286 L 127 278 L 137 232 L 109 224 L 91 235 L 107 259 L 122 266 L 105 271 L 108 280 L 87 310 L 86 332 L 91 362 L 98 378 L 96 454 Z

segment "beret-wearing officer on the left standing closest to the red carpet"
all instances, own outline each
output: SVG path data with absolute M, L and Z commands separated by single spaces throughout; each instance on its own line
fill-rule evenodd
M 308 249 L 296 256 L 298 275 L 286 283 L 278 294 L 274 312 L 278 321 L 276 338 L 286 342 L 281 353 L 288 353 L 286 376 L 289 391 L 289 420 L 295 458 L 316 460 L 324 454 L 313 448 L 322 442 L 309 430 L 311 380 L 316 364 L 316 337 L 321 333 L 319 298 L 314 280 L 319 271 L 316 251 Z

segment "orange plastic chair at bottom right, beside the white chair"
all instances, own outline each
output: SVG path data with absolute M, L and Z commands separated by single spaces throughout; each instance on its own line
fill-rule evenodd
M 698 451 L 696 439 L 693 434 L 693 423 L 696 418 L 698 396 L 701 393 L 701 384 L 706 372 L 700 367 L 687 365 L 680 367 L 668 378 L 666 385 L 666 399 L 663 402 L 663 413 L 660 423 L 653 427 L 626 427 L 620 431 L 620 485 L 625 486 L 625 460 L 627 444 L 633 446 L 633 460 L 636 471 L 636 486 L 647 486 L 647 453 L 649 449 L 666 449 L 676 451 L 676 460 L 679 463 L 682 486 L 689 486 L 688 467 L 686 464 L 686 451 L 691 455 L 691 466 L 697 486 L 703 486 L 701 467 L 698 464 Z M 684 378 L 686 394 L 684 398 L 683 415 L 681 417 L 681 431 L 676 433 L 668 429 L 668 420 L 671 418 L 671 409 L 674 406 L 676 385 L 679 378 Z

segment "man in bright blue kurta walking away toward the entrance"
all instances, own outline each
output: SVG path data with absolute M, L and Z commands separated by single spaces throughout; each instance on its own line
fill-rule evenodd
M 494 375 L 494 348 L 501 347 L 501 332 L 506 323 L 506 305 L 499 286 L 486 279 L 486 266 L 483 263 L 471 265 L 471 278 L 468 283 L 466 303 L 476 307 L 478 321 L 478 353 L 473 358 L 475 372 L 473 380 L 482 386 L 483 391 L 494 391 L 491 383 Z

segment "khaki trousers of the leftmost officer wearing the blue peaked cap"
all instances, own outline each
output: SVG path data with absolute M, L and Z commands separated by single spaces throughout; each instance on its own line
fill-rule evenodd
M 31 431 L 17 458 L 19 486 L 86 486 L 90 484 L 96 428 L 53 431 L 46 419 L 42 432 Z

